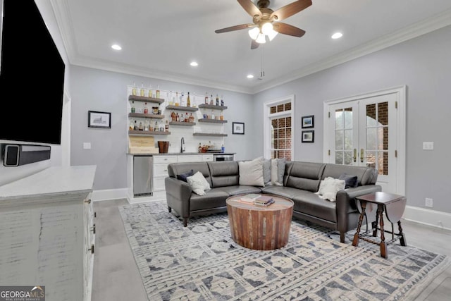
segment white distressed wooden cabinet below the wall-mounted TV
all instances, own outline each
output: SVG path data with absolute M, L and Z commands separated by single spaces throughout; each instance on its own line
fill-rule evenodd
M 91 300 L 96 166 L 50 167 L 0 186 L 0 283 Z

